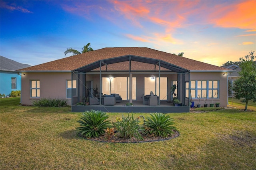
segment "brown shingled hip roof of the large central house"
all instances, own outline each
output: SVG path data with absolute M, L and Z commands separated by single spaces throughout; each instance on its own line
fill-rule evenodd
M 73 55 L 55 61 L 50 61 L 48 63 L 35 65 L 25 69 L 19 69 L 17 71 L 72 71 L 96 61 L 128 55 L 165 61 L 190 71 L 230 71 L 230 69 L 188 59 L 186 57 L 180 57 L 171 53 L 166 53 L 147 47 L 106 47 L 79 55 Z M 127 63 L 128 61 L 115 63 L 113 64 L 115 67 L 112 67 L 112 70 L 126 70 L 129 68 L 127 67 Z M 148 65 L 140 62 L 134 62 L 132 68 L 133 70 L 147 70 Z

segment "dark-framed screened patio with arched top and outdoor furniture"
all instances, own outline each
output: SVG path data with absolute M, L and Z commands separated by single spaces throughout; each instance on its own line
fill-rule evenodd
M 188 82 L 189 70 L 160 59 L 134 55 L 102 59 L 72 71 L 72 111 L 189 112 Z M 144 101 L 144 97 L 150 100 L 150 93 L 153 93 L 152 98 L 157 97 L 155 104 Z M 113 95 L 117 97 L 113 103 L 106 102 Z M 182 106 L 172 105 L 174 97 Z M 86 106 L 76 105 L 89 100 L 94 102 Z M 127 106 L 129 103 L 132 106 Z

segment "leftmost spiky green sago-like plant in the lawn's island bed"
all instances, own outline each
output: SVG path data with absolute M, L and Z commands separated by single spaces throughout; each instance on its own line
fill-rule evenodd
M 98 137 L 105 133 L 105 130 L 110 127 L 110 121 L 108 121 L 108 115 L 102 111 L 86 111 L 82 114 L 80 127 L 77 127 L 77 131 L 80 135 L 90 137 Z

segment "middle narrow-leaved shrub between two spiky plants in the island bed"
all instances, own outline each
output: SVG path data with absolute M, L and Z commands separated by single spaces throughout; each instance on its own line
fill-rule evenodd
M 122 119 L 114 123 L 114 126 L 118 130 L 118 135 L 120 138 L 132 138 L 135 137 L 138 140 L 143 140 L 140 132 L 144 130 L 143 126 L 139 125 L 140 121 L 138 118 L 134 119 L 132 116 L 124 117 L 122 115 Z

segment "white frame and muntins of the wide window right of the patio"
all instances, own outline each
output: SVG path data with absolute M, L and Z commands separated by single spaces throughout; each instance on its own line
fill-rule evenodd
M 195 84 L 195 88 L 191 88 L 191 81 L 195 81 L 195 83 L 196 83 Z M 212 99 L 212 97 L 209 96 L 210 92 L 212 92 L 212 95 L 214 95 L 213 91 L 217 90 L 217 94 L 214 96 L 213 99 L 219 99 L 219 96 L 220 96 L 220 81 L 219 80 L 191 80 L 191 81 L 189 83 L 189 87 L 190 87 L 191 91 L 195 90 L 195 97 L 192 97 L 192 99 L 199 99 L 199 97 L 198 97 L 198 90 L 201 90 L 201 94 L 202 94 L 202 90 L 206 90 L 206 98 L 207 99 Z M 206 81 L 206 88 L 202 88 L 202 81 Z M 217 81 L 217 83 L 218 83 L 217 84 L 218 85 L 217 88 L 213 87 L 214 81 Z M 200 88 L 198 88 L 198 83 L 199 82 L 201 83 L 201 87 Z M 209 88 L 209 83 L 210 82 L 212 83 L 212 85 L 211 85 L 212 88 Z M 186 88 L 186 90 L 189 90 L 189 89 Z M 204 96 L 200 96 L 200 99 L 202 99 L 202 98 L 204 98 Z

